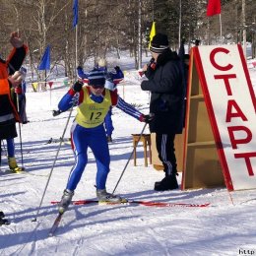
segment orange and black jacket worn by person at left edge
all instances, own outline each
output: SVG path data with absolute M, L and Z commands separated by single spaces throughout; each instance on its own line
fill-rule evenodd
M 9 121 L 12 116 L 15 116 L 16 121 L 20 120 L 11 97 L 12 85 L 7 78 L 22 67 L 27 51 L 28 47 L 23 45 L 14 48 L 6 61 L 0 58 L 0 123 Z

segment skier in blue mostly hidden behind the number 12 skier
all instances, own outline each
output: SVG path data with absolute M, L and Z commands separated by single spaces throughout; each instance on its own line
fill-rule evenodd
M 98 62 L 96 63 L 95 68 L 107 74 L 105 59 L 99 59 Z M 88 74 L 84 72 L 83 68 L 78 67 L 77 71 L 78 71 L 79 78 L 82 79 L 83 82 L 88 83 Z M 113 84 L 111 85 L 107 84 L 109 87 L 107 89 L 109 89 L 110 91 L 117 90 L 116 88 L 117 84 L 119 84 L 124 78 L 122 70 L 120 69 L 120 67 L 116 66 L 114 67 L 114 70 L 108 73 L 108 75 L 111 77 Z M 108 143 L 112 142 L 112 132 L 114 130 L 111 115 L 112 115 L 112 107 L 109 108 L 104 119 L 104 128 L 105 128 L 105 133 L 106 133 L 106 138 Z

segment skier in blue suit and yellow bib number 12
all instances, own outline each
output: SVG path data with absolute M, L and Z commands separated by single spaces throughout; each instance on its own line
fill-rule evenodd
M 71 128 L 71 142 L 76 163 L 71 169 L 66 189 L 58 206 L 60 214 L 67 210 L 88 163 L 88 147 L 92 149 L 96 158 L 98 202 L 126 202 L 124 198 L 106 192 L 105 183 L 109 172 L 110 157 L 103 127 L 104 117 L 112 105 L 142 122 L 149 122 L 150 117 L 125 102 L 116 91 L 106 89 L 108 84 L 113 86 L 113 81 L 109 76 L 106 80 L 105 72 L 95 68 L 88 75 L 87 87 L 83 87 L 81 81 L 76 82 L 58 104 L 61 112 L 66 111 L 72 106 L 72 98 L 77 93 L 79 94 L 77 115 Z

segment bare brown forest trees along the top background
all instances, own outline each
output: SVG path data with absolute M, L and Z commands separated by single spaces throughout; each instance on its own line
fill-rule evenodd
M 204 44 L 252 42 L 255 56 L 255 0 L 222 0 L 223 38 L 219 16 L 206 16 L 207 0 L 87 0 L 79 1 L 78 40 L 72 27 L 73 0 L 0 0 L 0 47 L 6 57 L 11 45 L 9 34 L 19 30 L 29 45 L 27 65 L 36 79 L 44 74 L 37 65 L 47 44 L 51 45 L 51 68 L 63 65 L 70 78 L 78 64 L 89 58 L 105 57 L 107 52 L 120 58 L 128 50 L 135 67 L 141 66 L 142 51 L 148 51 L 152 22 L 157 32 L 167 33 L 172 49 L 180 37 L 199 38 Z M 244 5 L 242 5 L 244 3 Z M 181 7 L 181 8 L 180 8 Z M 242 8 L 243 7 L 243 8 Z M 244 10 L 244 12 L 242 12 Z M 242 18 L 244 14 L 244 20 Z M 140 17 L 140 19 L 138 18 Z M 246 38 L 245 38 L 246 37 Z

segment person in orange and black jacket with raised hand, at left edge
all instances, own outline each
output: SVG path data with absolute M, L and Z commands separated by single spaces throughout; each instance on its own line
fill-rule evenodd
M 12 95 L 11 89 L 18 87 L 23 80 L 22 73 L 17 71 L 23 64 L 28 48 L 19 32 L 11 33 L 10 42 L 14 49 L 8 59 L 5 61 L 0 58 L 0 140 L 7 140 L 9 167 L 17 172 L 22 168 L 18 166 L 14 155 L 13 139 L 17 137 L 16 122 L 20 118 L 15 107 L 15 94 Z

